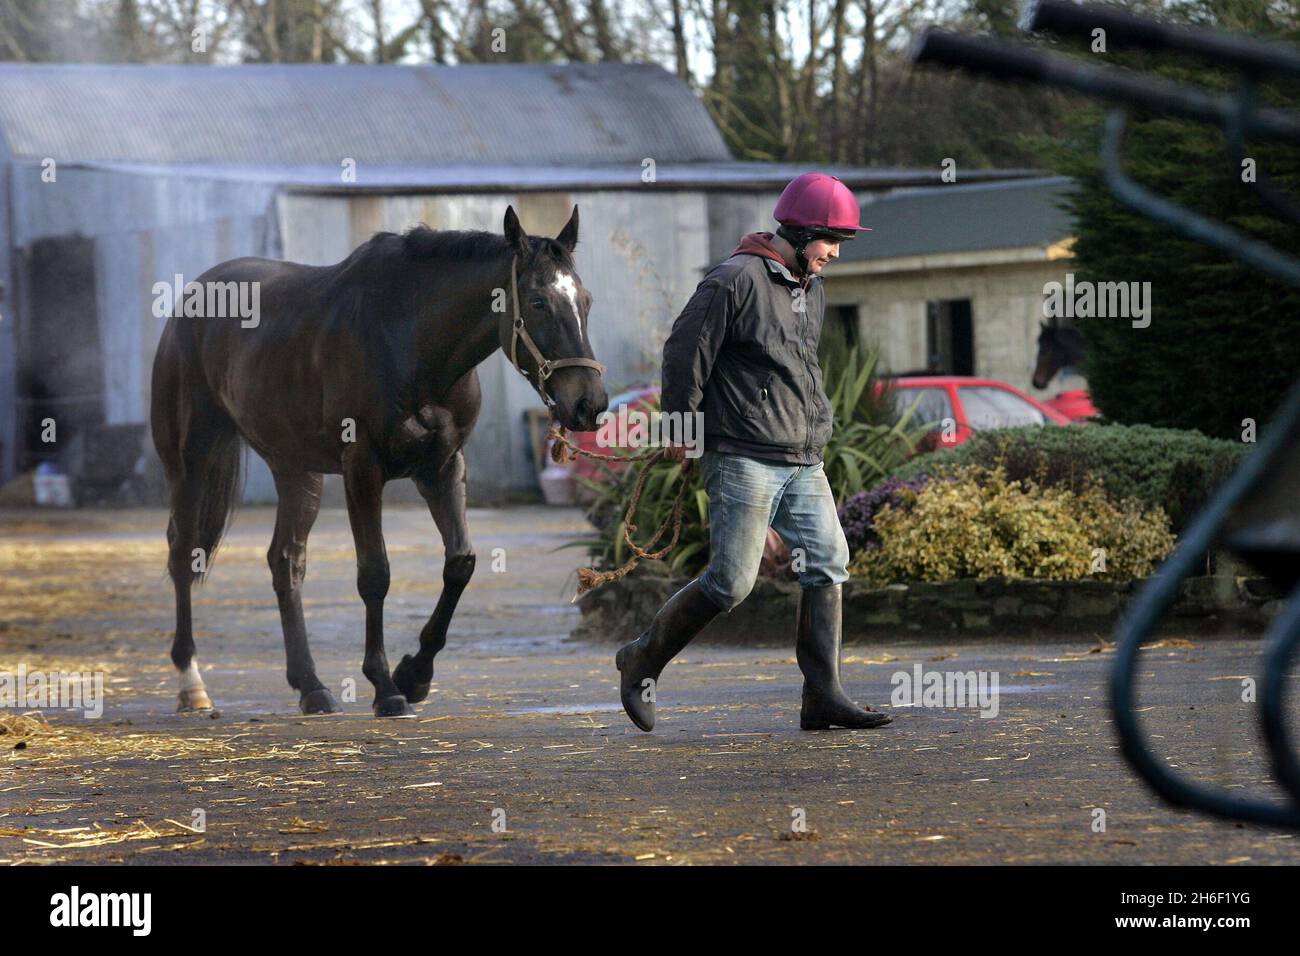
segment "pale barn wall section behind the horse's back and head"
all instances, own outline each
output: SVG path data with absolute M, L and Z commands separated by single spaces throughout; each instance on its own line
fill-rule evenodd
M 524 228 L 555 235 L 580 207 L 578 273 L 594 304 L 590 337 L 611 397 L 658 380 L 663 339 L 708 264 L 708 212 L 694 191 L 582 191 L 325 196 L 280 200 L 285 258 L 334 263 L 376 230 L 502 228 L 514 204 Z M 537 489 L 524 414 L 542 407 L 532 386 L 495 352 L 478 368 L 484 406 L 465 449 L 480 501 Z

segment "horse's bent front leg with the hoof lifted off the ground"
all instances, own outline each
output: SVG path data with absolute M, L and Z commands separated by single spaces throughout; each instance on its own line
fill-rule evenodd
M 474 574 L 474 550 L 465 523 L 465 457 L 456 451 L 441 471 L 429 477 L 417 476 L 415 484 L 442 535 L 446 561 L 442 566 L 442 594 L 429 623 L 420 631 L 420 650 L 415 657 L 403 657 L 393 672 L 398 689 L 412 704 L 429 696 L 434 654 L 446 645 L 451 615 L 456 613 L 456 602 Z

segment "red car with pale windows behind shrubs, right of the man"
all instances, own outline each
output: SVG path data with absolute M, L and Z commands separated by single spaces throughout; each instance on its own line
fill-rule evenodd
M 936 444 L 948 447 L 961 445 L 972 432 L 991 428 L 1070 424 L 1067 415 L 996 378 L 907 376 L 892 378 L 889 388 L 896 393 L 898 414 L 916 403 L 910 423 L 933 423 Z

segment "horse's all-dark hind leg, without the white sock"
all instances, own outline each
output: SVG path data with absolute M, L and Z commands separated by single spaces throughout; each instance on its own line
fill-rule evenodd
M 270 579 L 280 602 L 280 624 L 285 632 L 285 675 L 298 691 L 298 706 L 304 714 L 339 711 L 325 685 L 316 676 L 316 662 L 307 646 L 307 624 L 303 620 L 303 578 L 307 575 L 307 536 L 321 507 L 322 479 L 315 472 L 276 472 L 276 533 L 266 551 Z

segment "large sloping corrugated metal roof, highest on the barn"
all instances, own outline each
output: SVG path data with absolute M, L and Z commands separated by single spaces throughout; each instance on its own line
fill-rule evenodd
M 16 159 L 334 170 L 731 160 L 690 88 L 650 64 L 3 64 L 0 137 Z

